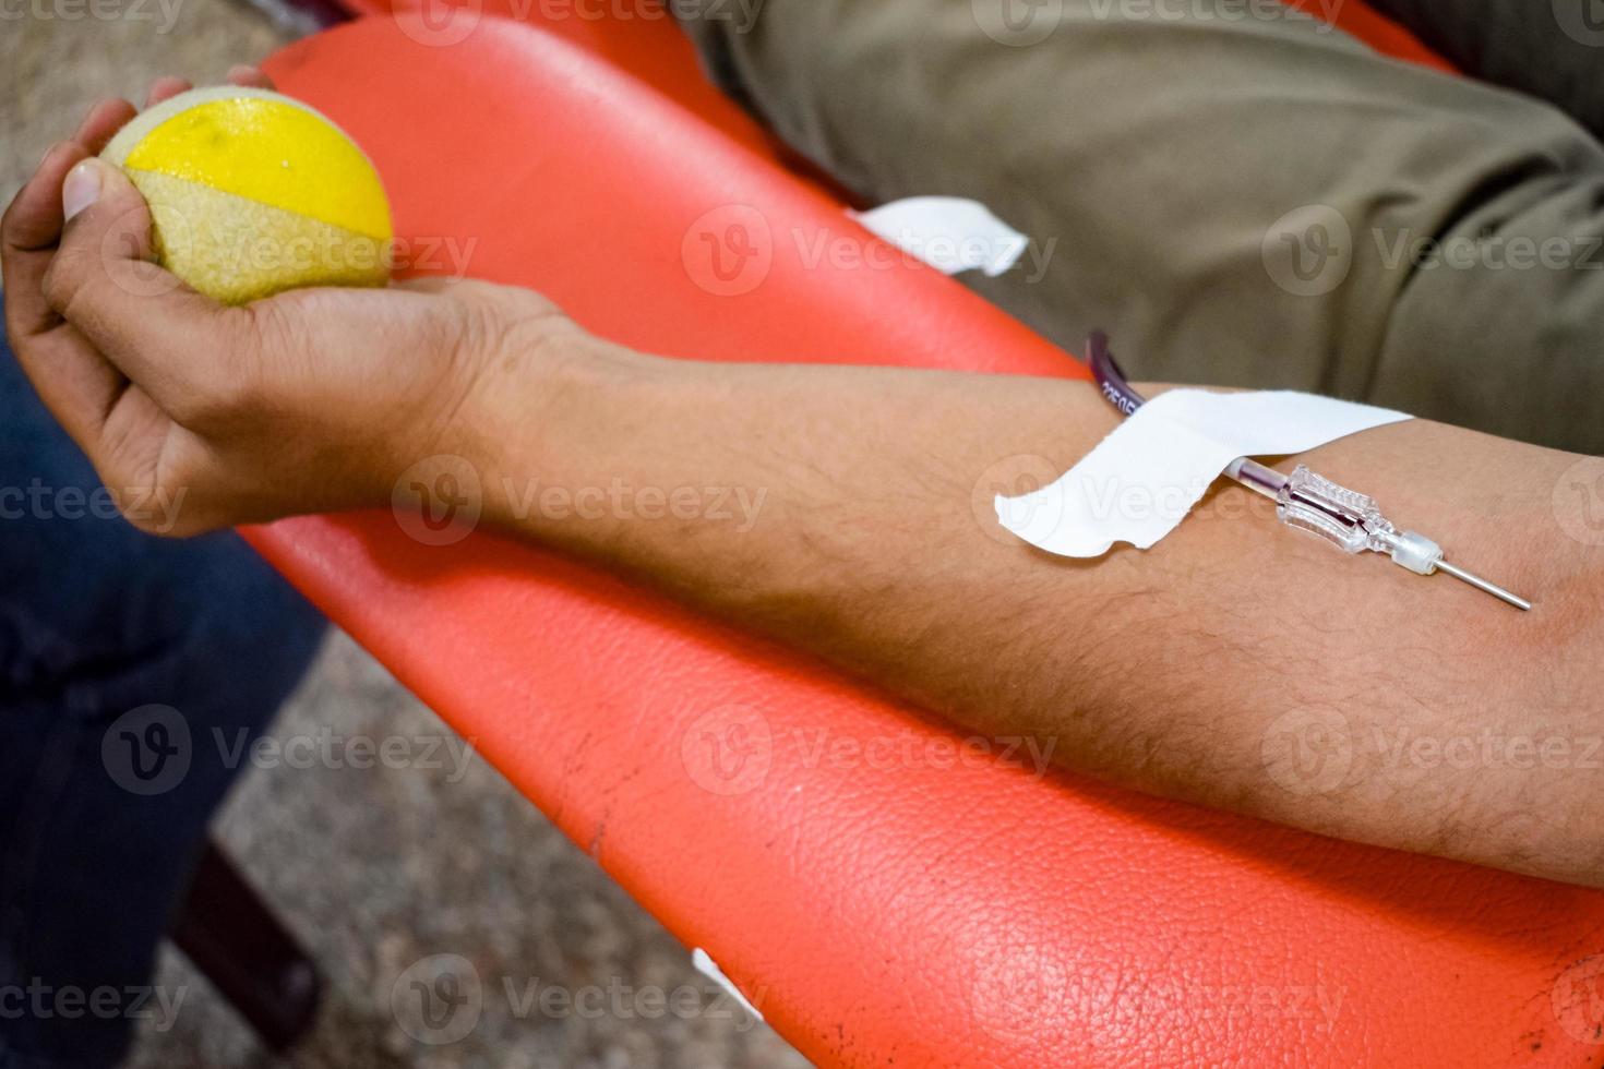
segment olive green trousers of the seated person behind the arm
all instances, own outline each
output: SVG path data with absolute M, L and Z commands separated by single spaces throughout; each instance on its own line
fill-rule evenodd
M 1317 0 L 1339 3 L 1343 0 Z M 1031 237 L 961 276 L 1142 380 L 1298 388 L 1604 454 L 1598 0 L 678 0 L 709 67 L 869 202 Z

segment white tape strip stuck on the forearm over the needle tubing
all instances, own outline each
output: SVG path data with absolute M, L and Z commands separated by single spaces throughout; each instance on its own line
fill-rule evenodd
M 1286 389 L 1153 397 L 1057 481 L 996 498 L 998 519 L 1060 556 L 1139 550 L 1176 529 L 1237 457 L 1277 457 L 1410 418 L 1368 404 Z

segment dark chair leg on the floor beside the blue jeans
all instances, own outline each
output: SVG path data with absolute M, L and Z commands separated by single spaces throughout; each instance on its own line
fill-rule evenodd
M 318 966 L 217 843 L 207 843 L 172 936 L 269 1050 L 311 1029 Z

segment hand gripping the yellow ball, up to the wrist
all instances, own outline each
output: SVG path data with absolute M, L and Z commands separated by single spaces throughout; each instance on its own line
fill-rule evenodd
M 249 67 L 229 80 L 269 88 Z M 162 79 L 148 106 L 188 88 Z M 488 377 L 584 338 L 539 295 L 473 280 L 225 308 L 151 263 L 144 199 L 93 159 L 133 115 L 103 101 L 51 147 L 0 247 L 13 349 L 136 526 L 189 535 L 388 502 L 409 465 L 494 433 L 476 426 Z

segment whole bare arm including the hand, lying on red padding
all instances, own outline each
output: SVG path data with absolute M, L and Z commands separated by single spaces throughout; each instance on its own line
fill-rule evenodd
M 1052 558 L 998 527 L 991 495 L 1115 426 L 1086 383 L 653 357 L 483 282 L 225 309 L 152 285 L 143 200 L 80 165 L 132 114 L 98 107 L 18 196 L 6 319 L 109 487 L 184 494 L 162 534 L 387 505 L 403 471 L 449 454 L 492 522 L 1067 768 L 1604 886 L 1604 553 L 1567 534 L 1556 495 L 1580 458 L 1428 422 L 1296 458 L 1529 614 L 1344 558 L 1229 484 L 1148 551 Z M 539 506 L 618 486 L 759 506 Z

